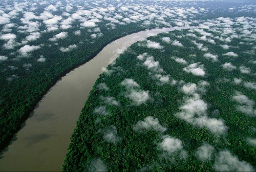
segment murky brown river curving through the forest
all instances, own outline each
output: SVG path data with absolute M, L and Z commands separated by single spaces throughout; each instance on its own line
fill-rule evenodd
M 119 38 L 62 77 L 1 153 L 0 171 L 61 171 L 76 121 L 101 69 L 138 40 L 181 29 L 187 27 L 146 30 Z

